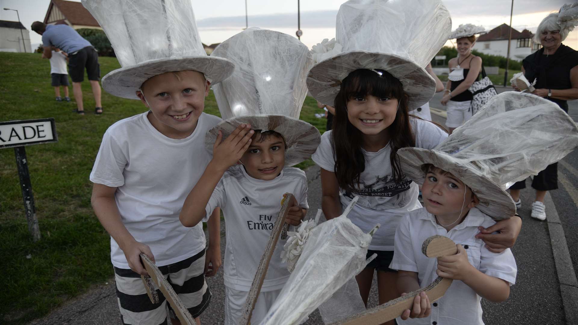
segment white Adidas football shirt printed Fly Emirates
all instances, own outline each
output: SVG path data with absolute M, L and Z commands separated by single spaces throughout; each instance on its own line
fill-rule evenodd
M 261 180 L 236 165 L 217 184 L 206 213 L 210 215 L 219 206 L 225 216 L 225 286 L 240 291 L 251 289 L 285 193 L 292 193 L 301 208 L 309 209 L 305 172 L 285 167 L 275 179 Z M 281 263 L 285 242 L 279 238 L 261 291 L 279 290 L 289 278 L 287 264 Z

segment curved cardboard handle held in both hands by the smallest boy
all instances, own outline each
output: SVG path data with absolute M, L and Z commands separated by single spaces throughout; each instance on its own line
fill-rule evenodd
M 425 239 L 421 246 L 421 252 L 427 257 L 442 257 L 457 254 L 458 248 L 450 238 L 435 235 Z M 428 295 L 429 302 L 439 300 L 439 298 L 442 298 L 446 293 L 451 282 L 451 279 L 440 278 L 438 276 L 438 278 L 433 280 L 427 287 L 412 291 L 405 296 L 390 300 L 385 304 L 347 317 L 331 325 L 378 325 L 385 323 L 388 320 L 401 316 L 406 309 L 412 309 L 413 298 L 420 294 L 421 291 L 425 291 Z

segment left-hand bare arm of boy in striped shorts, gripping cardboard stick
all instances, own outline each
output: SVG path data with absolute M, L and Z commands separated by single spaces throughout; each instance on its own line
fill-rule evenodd
M 92 197 L 90 199 L 94 213 L 103 227 L 110 234 L 118 247 L 123 250 L 127 258 L 128 266 L 140 275 L 148 275 L 142 263 L 140 263 L 140 253 L 146 254 L 153 262 L 154 256 L 149 246 L 135 240 L 131 233 L 124 226 L 118 212 L 118 206 L 114 200 L 116 187 L 94 183 L 92 186 Z

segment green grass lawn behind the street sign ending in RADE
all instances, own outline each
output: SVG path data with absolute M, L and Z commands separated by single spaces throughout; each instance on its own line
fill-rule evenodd
M 91 285 L 112 278 L 110 237 L 92 212 L 88 176 L 102 135 L 114 122 L 142 113 L 138 101 L 102 92 L 104 114 L 94 115 L 94 98 L 83 83 L 86 115 L 76 104 L 56 102 L 50 64 L 40 54 L 0 52 L 0 121 L 54 117 L 57 143 L 27 146 L 27 161 L 42 239 L 28 232 L 14 150 L 0 150 L 0 323 L 24 324 L 49 313 Z M 116 58 L 101 57 L 102 76 L 119 68 Z M 70 87 L 72 94 L 72 87 Z M 205 112 L 220 116 L 214 95 Z M 315 99 L 307 97 L 301 119 L 325 130 Z M 305 161 L 298 167 L 313 165 Z

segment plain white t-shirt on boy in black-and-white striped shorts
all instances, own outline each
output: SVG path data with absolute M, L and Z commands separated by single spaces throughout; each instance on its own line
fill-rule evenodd
M 90 180 L 117 187 L 114 197 L 124 226 L 136 241 L 150 246 L 162 266 L 205 248 L 202 223 L 184 227 L 179 213 L 212 157 L 205 149 L 205 134 L 221 119 L 202 113 L 190 136 L 171 139 L 150 124 L 147 114 L 106 130 Z M 112 237 L 110 259 L 115 267 L 129 268 Z

